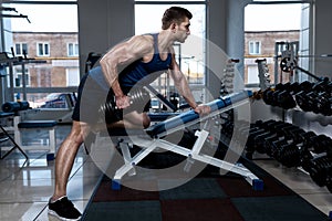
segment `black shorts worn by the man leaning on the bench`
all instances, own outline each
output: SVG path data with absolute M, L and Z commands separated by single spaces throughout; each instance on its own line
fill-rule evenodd
M 100 74 L 103 73 L 100 72 Z M 125 94 L 132 92 L 131 88 L 122 90 Z M 103 107 L 105 107 L 105 104 L 110 104 L 110 102 L 114 105 L 114 93 L 112 88 L 106 85 L 103 77 L 98 77 L 98 80 L 96 80 L 95 75 L 85 74 L 79 85 L 77 101 L 73 110 L 72 119 L 87 124 L 95 124 L 102 120 L 105 120 L 107 124 L 112 124 L 123 119 L 124 113 L 126 114 L 133 110 L 137 110 L 138 113 L 148 112 L 151 107 L 148 101 L 146 102 L 143 110 L 139 110 L 142 108 L 137 107 L 137 105 L 131 105 L 125 110 L 112 109 L 112 112 L 110 112 L 108 108 L 105 112 L 105 108 Z

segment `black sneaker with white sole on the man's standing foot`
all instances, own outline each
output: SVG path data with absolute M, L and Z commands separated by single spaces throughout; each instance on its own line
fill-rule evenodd
M 58 217 L 60 220 L 80 220 L 81 212 L 66 198 L 62 197 L 54 202 L 49 201 L 49 214 Z

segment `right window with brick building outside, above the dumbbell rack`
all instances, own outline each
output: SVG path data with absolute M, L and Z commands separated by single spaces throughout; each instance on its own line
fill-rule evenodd
M 276 57 L 287 50 L 286 44 L 277 42 L 299 42 L 299 53 L 308 54 L 310 52 L 310 24 L 312 23 L 312 1 L 273 1 L 273 0 L 253 0 L 245 8 L 245 84 L 259 83 L 255 76 L 259 74 L 259 69 L 255 62 L 257 57 L 267 59 L 267 65 L 270 72 L 270 83 L 277 84 L 281 80 L 279 62 Z M 280 14 L 288 14 L 282 17 Z M 256 34 L 256 35 L 255 35 Z M 259 40 L 259 43 L 255 43 Z M 249 42 L 251 41 L 251 44 Z M 278 46 L 278 48 L 277 48 Z M 260 51 L 258 50 L 260 48 Z M 309 60 L 299 62 L 303 67 L 309 66 Z M 255 71 L 256 67 L 256 71 Z M 253 77 L 251 77 L 252 75 Z M 290 75 L 289 75 L 290 76 Z M 295 72 L 293 76 L 282 81 L 297 81 L 301 74 Z M 251 84 L 252 86 L 257 86 Z

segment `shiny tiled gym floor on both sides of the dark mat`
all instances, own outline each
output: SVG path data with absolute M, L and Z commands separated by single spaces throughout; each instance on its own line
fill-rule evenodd
M 69 131 L 70 126 L 58 126 L 58 146 Z M 46 131 L 35 133 L 27 134 L 23 139 L 31 141 Z M 46 212 L 54 186 L 54 161 L 46 161 L 46 151 L 27 154 L 28 161 L 20 152 L 12 152 L 0 160 L 0 220 L 56 220 Z M 305 172 L 284 168 L 270 159 L 255 161 L 325 214 L 332 211 L 332 193 L 326 188 L 318 187 Z M 81 148 L 68 186 L 69 198 L 80 211 L 84 211 L 102 175 Z

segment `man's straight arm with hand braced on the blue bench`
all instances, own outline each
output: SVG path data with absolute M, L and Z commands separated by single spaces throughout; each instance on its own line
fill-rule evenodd
M 186 76 L 184 73 L 180 71 L 176 60 L 175 60 L 175 54 L 173 53 L 173 59 L 172 59 L 172 67 L 170 67 L 170 76 L 174 80 L 174 84 L 178 92 L 181 94 L 181 96 L 186 99 L 188 105 L 195 109 L 198 114 L 208 114 L 210 113 L 210 107 L 209 106 L 198 106 L 194 95 L 191 93 L 191 90 L 189 88 L 189 84 L 187 82 Z

